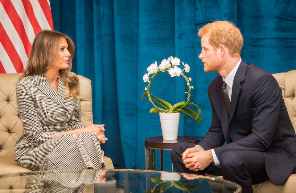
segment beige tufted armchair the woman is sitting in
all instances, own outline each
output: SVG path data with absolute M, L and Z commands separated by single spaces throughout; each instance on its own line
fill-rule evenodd
M 17 166 L 14 161 L 14 146 L 23 133 L 23 123 L 16 111 L 15 86 L 21 76 L 18 74 L 0 74 L 0 174 L 30 171 Z M 78 75 L 81 94 L 81 117 L 85 126 L 92 124 L 92 89 L 89 79 Z M 104 156 L 106 168 L 113 163 Z

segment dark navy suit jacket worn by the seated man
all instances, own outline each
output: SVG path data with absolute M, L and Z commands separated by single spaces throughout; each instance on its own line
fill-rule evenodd
M 270 181 L 283 185 L 296 167 L 296 136 L 278 82 L 242 60 L 233 80 L 229 116 L 222 82 L 219 75 L 208 87 L 212 125 L 199 145 L 214 148 L 219 160 L 232 150 L 263 152 Z

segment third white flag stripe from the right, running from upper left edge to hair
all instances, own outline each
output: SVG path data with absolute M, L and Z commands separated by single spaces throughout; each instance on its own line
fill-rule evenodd
M 10 41 L 12 42 L 15 50 L 18 52 L 19 57 L 22 60 L 22 63 L 24 65 L 27 62 L 28 57 L 26 55 L 23 42 L 20 39 L 18 32 L 15 30 L 14 26 L 12 25 L 10 18 L 6 14 L 6 11 L 2 6 L 2 3 L 0 3 L 0 22 L 2 23 L 4 30 L 6 31 Z

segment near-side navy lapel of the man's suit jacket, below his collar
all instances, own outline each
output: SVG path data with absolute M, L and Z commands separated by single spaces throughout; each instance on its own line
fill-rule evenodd
M 234 79 L 233 79 L 233 84 L 232 84 L 232 94 L 231 94 L 231 103 L 230 103 L 230 113 L 229 113 L 229 123 L 231 122 L 231 119 L 233 117 L 238 96 L 241 91 L 241 82 L 245 80 L 245 75 L 247 72 L 247 67 L 248 64 L 245 63 L 244 60 L 241 60 L 241 64 L 238 67 Z

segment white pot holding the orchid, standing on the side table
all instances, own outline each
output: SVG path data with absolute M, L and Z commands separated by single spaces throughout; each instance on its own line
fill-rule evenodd
M 180 113 L 159 113 L 162 138 L 175 140 L 178 138 Z

